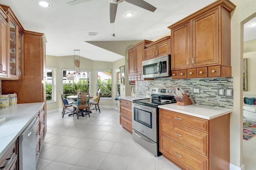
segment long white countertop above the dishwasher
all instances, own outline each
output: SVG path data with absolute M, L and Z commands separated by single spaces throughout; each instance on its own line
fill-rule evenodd
M 0 158 L 43 105 L 43 102 L 24 103 L 0 109 L 0 117 L 6 118 L 5 121 L 0 123 Z

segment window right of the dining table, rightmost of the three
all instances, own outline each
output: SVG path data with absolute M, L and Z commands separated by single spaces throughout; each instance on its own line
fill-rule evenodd
M 112 97 L 112 71 L 96 71 L 97 87 L 100 89 L 100 97 Z

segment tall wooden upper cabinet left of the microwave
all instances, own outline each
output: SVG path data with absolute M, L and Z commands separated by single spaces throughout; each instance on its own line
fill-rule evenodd
M 142 61 L 145 58 L 145 45 L 151 43 L 152 41 L 143 40 L 132 47 L 129 47 L 128 50 L 128 70 L 129 75 L 140 75 L 142 74 Z

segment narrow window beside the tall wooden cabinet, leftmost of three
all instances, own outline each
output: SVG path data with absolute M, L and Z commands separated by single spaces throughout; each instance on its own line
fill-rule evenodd
M 46 69 L 47 77 L 45 82 L 46 87 L 46 103 L 55 101 L 55 87 L 54 87 L 54 69 Z

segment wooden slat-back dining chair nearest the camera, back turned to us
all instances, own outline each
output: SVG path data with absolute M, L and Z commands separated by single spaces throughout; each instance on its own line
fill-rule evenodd
M 77 97 L 77 103 L 73 104 L 74 113 L 77 115 L 77 119 L 79 116 L 89 115 L 89 94 L 85 91 L 82 91 Z

